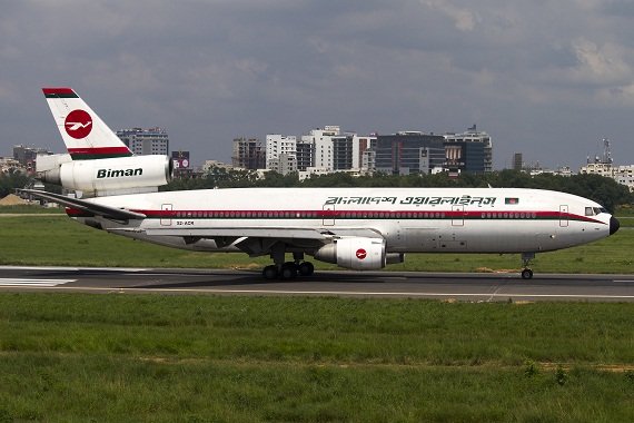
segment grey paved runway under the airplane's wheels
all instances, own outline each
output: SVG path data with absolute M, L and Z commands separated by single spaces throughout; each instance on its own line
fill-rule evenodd
M 634 302 L 634 275 L 536 273 L 524 281 L 517 274 L 340 270 L 270 282 L 248 270 L 0 266 L 0 292 L 7 291 Z

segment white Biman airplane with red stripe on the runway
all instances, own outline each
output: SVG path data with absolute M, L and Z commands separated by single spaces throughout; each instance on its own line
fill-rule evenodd
M 304 260 L 356 270 L 402 263 L 405 253 L 535 253 L 614 234 L 597 203 L 515 188 L 237 188 L 159 193 L 167 156 L 133 156 L 70 88 L 44 88 L 68 155 L 38 161 L 39 177 L 75 197 L 29 194 L 67 207 L 85 225 L 169 247 L 269 255 L 267 279 L 306 276 Z M 291 260 L 286 256 L 293 255 Z

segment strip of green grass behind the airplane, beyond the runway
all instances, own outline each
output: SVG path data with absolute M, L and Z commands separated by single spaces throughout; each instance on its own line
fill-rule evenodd
M 624 227 L 601 242 L 537 254 L 536 273 L 634 273 L 634 230 Z M 77 224 L 63 215 L 0 217 L 0 265 L 261 268 L 268 257 L 178 250 L 136 242 Z M 318 269 L 333 265 L 315 262 Z M 518 270 L 519 255 L 408 254 L 393 270 Z

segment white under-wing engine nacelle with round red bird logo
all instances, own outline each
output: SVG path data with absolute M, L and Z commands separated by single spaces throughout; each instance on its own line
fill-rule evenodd
M 314 254 L 315 258 L 354 270 L 376 270 L 386 265 L 385 239 L 340 238 Z

